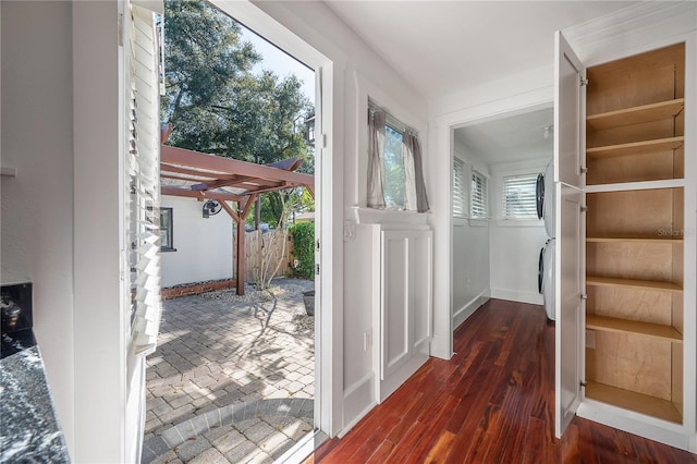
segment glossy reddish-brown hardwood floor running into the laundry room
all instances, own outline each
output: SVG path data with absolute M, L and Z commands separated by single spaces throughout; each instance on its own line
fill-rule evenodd
M 554 438 L 554 326 L 491 300 L 346 436 L 306 463 L 697 463 L 695 454 L 575 417 Z

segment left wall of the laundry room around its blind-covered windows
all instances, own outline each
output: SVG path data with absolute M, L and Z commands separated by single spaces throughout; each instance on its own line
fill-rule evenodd
M 454 155 L 465 162 L 466 185 L 472 168 L 489 175 L 489 167 L 455 143 Z M 468 190 L 467 190 L 468 192 Z M 469 317 L 489 296 L 491 288 L 489 221 L 453 219 L 453 329 Z

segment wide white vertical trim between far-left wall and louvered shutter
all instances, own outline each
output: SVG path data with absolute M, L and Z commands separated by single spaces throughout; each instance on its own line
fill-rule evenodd
M 124 83 L 117 44 L 122 7 L 121 2 L 72 3 L 74 462 L 130 461 L 125 437 L 130 312 L 124 301 L 120 219 L 125 190 L 120 155 Z M 102 418 L 98 427 L 95 417 Z

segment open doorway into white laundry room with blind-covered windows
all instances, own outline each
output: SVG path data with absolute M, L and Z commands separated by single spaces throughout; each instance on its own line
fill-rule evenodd
M 547 103 L 451 126 L 453 329 L 489 297 L 542 304 L 536 183 L 553 157 L 552 119 Z

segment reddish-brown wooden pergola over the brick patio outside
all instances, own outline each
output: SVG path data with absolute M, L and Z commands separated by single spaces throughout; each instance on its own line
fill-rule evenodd
M 236 280 L 244 295 L 244 223 L 257 196 L 298 186 L 315 196 L 315 178 L 295 172 L 303 160 L 290 158 L 269 166 L 161 145 L 162 195 L 216 200 L 237 224 Z M 236 209 L 230 203 L 236 203 Z

